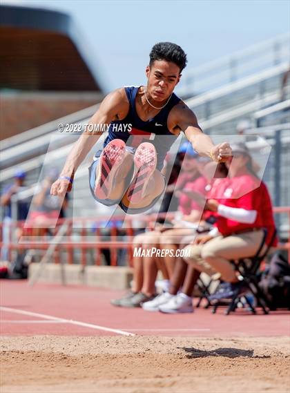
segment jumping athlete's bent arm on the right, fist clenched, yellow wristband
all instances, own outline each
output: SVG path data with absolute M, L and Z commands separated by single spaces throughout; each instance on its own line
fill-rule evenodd
M 193 111 L 183 102 L 177 105 L 177 126 L 184 131 L 187 139 L 197 153 L 210 157 L 211 160 L 224 162 L 231 156 L 231 146 L 228 142 L 213 144 L 213 141 L 202 132 Z

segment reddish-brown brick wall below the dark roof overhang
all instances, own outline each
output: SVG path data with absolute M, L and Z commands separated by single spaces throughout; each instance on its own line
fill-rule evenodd
M 1 140 L 101 101 L 100 93 L 1 93 Z

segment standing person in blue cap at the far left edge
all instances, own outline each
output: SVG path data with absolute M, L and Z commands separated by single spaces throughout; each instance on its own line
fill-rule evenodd
M 3 207 L 3 247 L 1 248 L 1 260 L 9 259 L 9 249 L 6 245 L 10 242 L 10 228 L 12 222 L 12 206 L 11 198 L 12 195 L 23 191 L 26 187 L 24 186 L 26 173 L 22 169 L 17 169 L 14 173 L 14 182 L 8 184 L 3 189 L 3 193 L 0 198 L 1 207 Z M 28 215 L 29 204 L 27 200 L 17 201 L 17 220 L 26 220 Z M 14 217 L 13 217 L 14 218 Z

